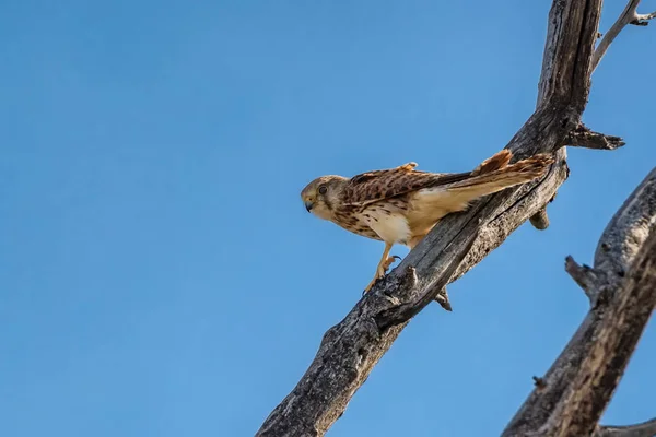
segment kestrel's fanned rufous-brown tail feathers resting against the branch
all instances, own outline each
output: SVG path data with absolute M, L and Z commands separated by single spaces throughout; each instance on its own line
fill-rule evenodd
M 549 154 L 535 155 L 508 164 L 512 157 L 513 153 L 511 151 L 502 150 L 494 156 L 483 161 L 481 165 L 471 172 L 471 177 L 449 184 L 445 187 L 446 191 L 461 194 L 466 192 L 466 197 L 473 200 L 539 178 L 547 173 L 549 166 L 553 163 L 553 157 Z

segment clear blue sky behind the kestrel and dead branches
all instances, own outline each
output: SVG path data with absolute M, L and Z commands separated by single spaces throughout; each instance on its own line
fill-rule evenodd
M 0 435 L 253 435 L 383 249 L 300 190 L 502 149 L 550 3 L 2 1 Z M 630 27 L 594 76 L 585 121 L 628 145 L 570 150 L 551 227 L 417 317 L 330 436 L 501 432 L 587 310 L 564 257 L 591 261 L 656 163 L 655 50 Z M 655 361 L 652 323 L 607 422 L 655 414 Z

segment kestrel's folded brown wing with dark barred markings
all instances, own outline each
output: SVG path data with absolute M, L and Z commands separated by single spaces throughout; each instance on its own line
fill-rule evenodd
M 396 168 L 353 176 L 344 189 L 343 204 L 364 206 L 422 188 L 458 182 L 471 177 L 471 173 L 419 172 L 414 169 L 415 166 L 415 163 L 408 163 Z

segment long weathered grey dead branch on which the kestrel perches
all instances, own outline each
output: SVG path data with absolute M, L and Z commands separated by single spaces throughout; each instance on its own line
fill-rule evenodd
M 410 319 L 435 299 L 446 284 L 480 262 L 529 217 L 546 227 L 544 205 L 569 175 L 563 145 L 567 140 L 574 141 L 582 127 L 601 3 L 553 1 L 538 106 L 506 145 L 515 160 L 554 153 L 557 162 L 548 175 L 538 182 L 490 196 L 468 212 L 442 220 L 399 267 L 326 332 L 309 368 L 267 417 L 257 436 L 323 436 Z M 587 146 L 586 141 L 591 144 L 588 139 L 578 145 Z M 618 144 L 621 140 L 610 142 Z

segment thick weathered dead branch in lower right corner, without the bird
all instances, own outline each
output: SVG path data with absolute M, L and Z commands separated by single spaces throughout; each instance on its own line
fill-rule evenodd
M 595 432 L 656 306 L 656 168 L 604 231 L 594 268 L 569 257 L 566 270 L 590 310 L 504 437 Z

